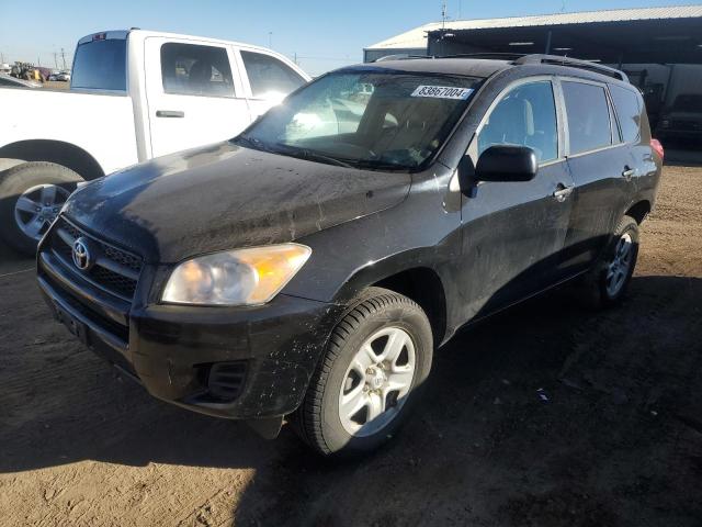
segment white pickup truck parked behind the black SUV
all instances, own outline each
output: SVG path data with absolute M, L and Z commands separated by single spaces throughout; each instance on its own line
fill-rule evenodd
M 141 30 L 88 35 L 70 91 L 0 88 L 0 235 L 34 253 L 81 180 L 233 137 L 309 80 L 248 44 Z

